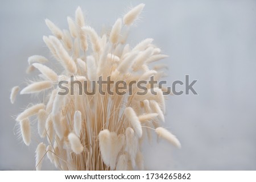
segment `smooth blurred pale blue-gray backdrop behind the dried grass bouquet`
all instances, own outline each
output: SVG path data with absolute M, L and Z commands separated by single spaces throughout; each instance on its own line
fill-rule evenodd
M 49 51 L 42 36 L 49 18 L 67 28 L 77 6 L 86 22 L 100 31 L 129 6 L 146 3 L 131 29 L 130 42 L 154 38 L 170 57 L 168 83 L 199 80 L 195 95 L 170 96 L 166 123 L 180 150 L 164 140 L 145 144 L 147 169 L 256 170 L 256 1 L 1 1 L 0 6 L 0 169 L 35 169 L 35 145 L 14 135 L 15 116 L 31 97 L 9 101 L 10 89 L 26 75 L 27 57 Z M 24 86 L 24 85 L 23 85 Z M 171 85 L 170 85 L 171 86 Z M 36 142 L 34 142 L 36 143 Z M 43 169 L 54 169 L 44 160 Z

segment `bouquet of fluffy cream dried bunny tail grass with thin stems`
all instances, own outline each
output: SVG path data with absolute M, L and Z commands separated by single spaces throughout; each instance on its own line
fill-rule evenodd
M 167 57 L 152 43 L 153 39 L 144 39 L 133 48 L 126 43 L 129 29 L 143 7 L 144 4 L 134 7 L 101 35 L 85 24 L 80 7 L 74 20 L 67 18 L 69 30 L 61 30 L 46 19 L 53 35 L 43 36 L 43 40 L 61 71 L 57 74 L 47 67 L 48 59 L 44 56 L 28 58 L 27 72 L 38 69 L 40 74 L 38 81 L 31 82 L 20 94 L 43 93 L 43 102 L 30 104 L 16 117 L 27 146 L 36 138 L 31 137 L 31 118 L 35 118 L 42 140 L 39 143 L 36 139 L 39 143 L 36 169 L 42 167 L 46 156 L 61 170 L 144 169 L 141 145 L 146 138 L 151 138 L 152 131 L 180 147 L 179 140 L 160 127 L 166 110 L 163 94 L 166 88 L 151 88 L 146 84 L 148 92 L 141 96 L 134 85 L 131 94 L 110 94 L 108 89 L 115 90 L 115 84 L 110 88 L 93 87 L 93 81 L 99 77 L 130 85 L 132 81 L 149 80 L 151 76 L 159 80 L 164 76 L 162 69 L 166 65 L 150 69 L 150 63 Z M 65 81 L 66 88 L 73 93 L 61 94 L 64 91 L 58 86 L 61 81 Z M 77 82 L 96 92 L 81 92 Z M 99 89 L 105 94 L 97 92 Z M 149 92 L 152 89 L 156 94 Z M 18 92 L 19 86 L 14 86 L 12 103 Z

